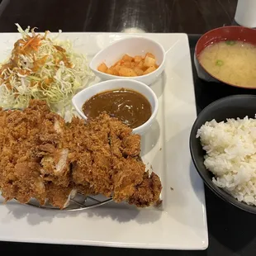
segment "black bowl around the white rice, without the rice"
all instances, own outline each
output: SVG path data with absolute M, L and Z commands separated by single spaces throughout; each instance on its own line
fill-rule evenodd
M 256 114 L 256 95 L 234 95 L 229 97 L 220 98 L 216 102 L 212 102 L 209 106 L 204 108 L 197 116 L 197 120 L 192 126 L 190 134 L 190 153 L 192 161 L 197 168 L 197 172 L 200 174 L 206 186 L 215 192 L 217 196 L 224 201 L 239 207 L 244 211 L 256 214 L 256 206 L 249 206 L 242 201 L 238 201 L 235 197 L 232 197 L 224 189 L 217 187 L 212 182 L 213 174 L 206 169 L 204 165 L 204 155 L 206 152 L 201 147 L 199 138 L 196 138 L 197 130 L 206 123 L 215 119 L 216 121 L 226 121 L 226 118 L 244 118 L 245 116 L 254 118 Z M 256 166 L 255 166 L 256 168 Z

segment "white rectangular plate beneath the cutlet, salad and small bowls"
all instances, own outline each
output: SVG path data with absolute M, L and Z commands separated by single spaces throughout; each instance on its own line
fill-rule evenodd
M 111 203 L 81 212 L 59 212 L 15 201 L 0 203 L 0 240 L 147 249 L 208 246 L 204 188 L 188 146 L 196 106 L 187 35 L 63 33 L 61 37 L 73 40 L 74 48 L 91 59 L 97 51 L 127 36 L 149 37 L 168 52 L 165 71 L 151 86 L 159 97 L 157 121 L 142 137 L 141 145 L 147 168 L 162 180 L 163 205 L 138 210 L 125 203 Z M 16 33 L 1 34 L 1 60 L 18 38 Z

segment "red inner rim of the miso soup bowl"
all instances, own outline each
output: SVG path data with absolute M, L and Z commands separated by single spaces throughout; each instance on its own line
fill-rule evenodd
M 208 76 L 211 76 L 211 78 L 214 78 L 216 81 L 220 83 L 225 83 L 236 88 L 255 90 L 256 83 L 254 88 L 236 85 L 233 83 L 227 83 L 221 80 L 220 78 L 216 78 L 216 76 L 208 72 L 200 63 L 198 57 L 201 54 L 201 51 L 204 50 L 208 45 L 211 45 L 212 43 L 220 42 L 221 40 L 245 41 L 256 46 L 256 31 L 254 29 L 244 27 L 244 26 L 221 26 L 211 31 L 208 31 L 204 35 L 202 35 L 197 41 L 197 45 L 195 47 L 195 57 L 196 57 L 195 61 L 197 61 L 197 63 L 200 65 L 202 72 L 205 72 Z M 199 71 L 197 70 L 197 73 L 198 72 Z

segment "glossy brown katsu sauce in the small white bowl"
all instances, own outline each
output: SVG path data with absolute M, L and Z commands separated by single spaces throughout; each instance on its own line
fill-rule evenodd
M 143 125 L 152 114 L 149 101 L 140 92 L 124 88 L 98 93 L 84 102 L 82 109 L 89 118 L 106 111 L 132 129 Z

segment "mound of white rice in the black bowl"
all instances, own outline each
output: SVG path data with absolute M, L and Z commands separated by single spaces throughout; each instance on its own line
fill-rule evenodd
M 223 187 L 238 201 L 256 206 L 256 119 L 207 121 L 199 130 L 206 150 L 204 164 Z

